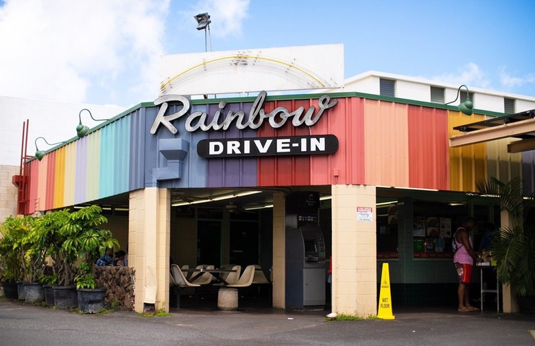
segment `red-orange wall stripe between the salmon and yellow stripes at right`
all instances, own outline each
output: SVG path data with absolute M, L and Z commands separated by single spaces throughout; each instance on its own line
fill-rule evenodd
M 409 186 L 449 189 L 448 114 L 409 106 Z

